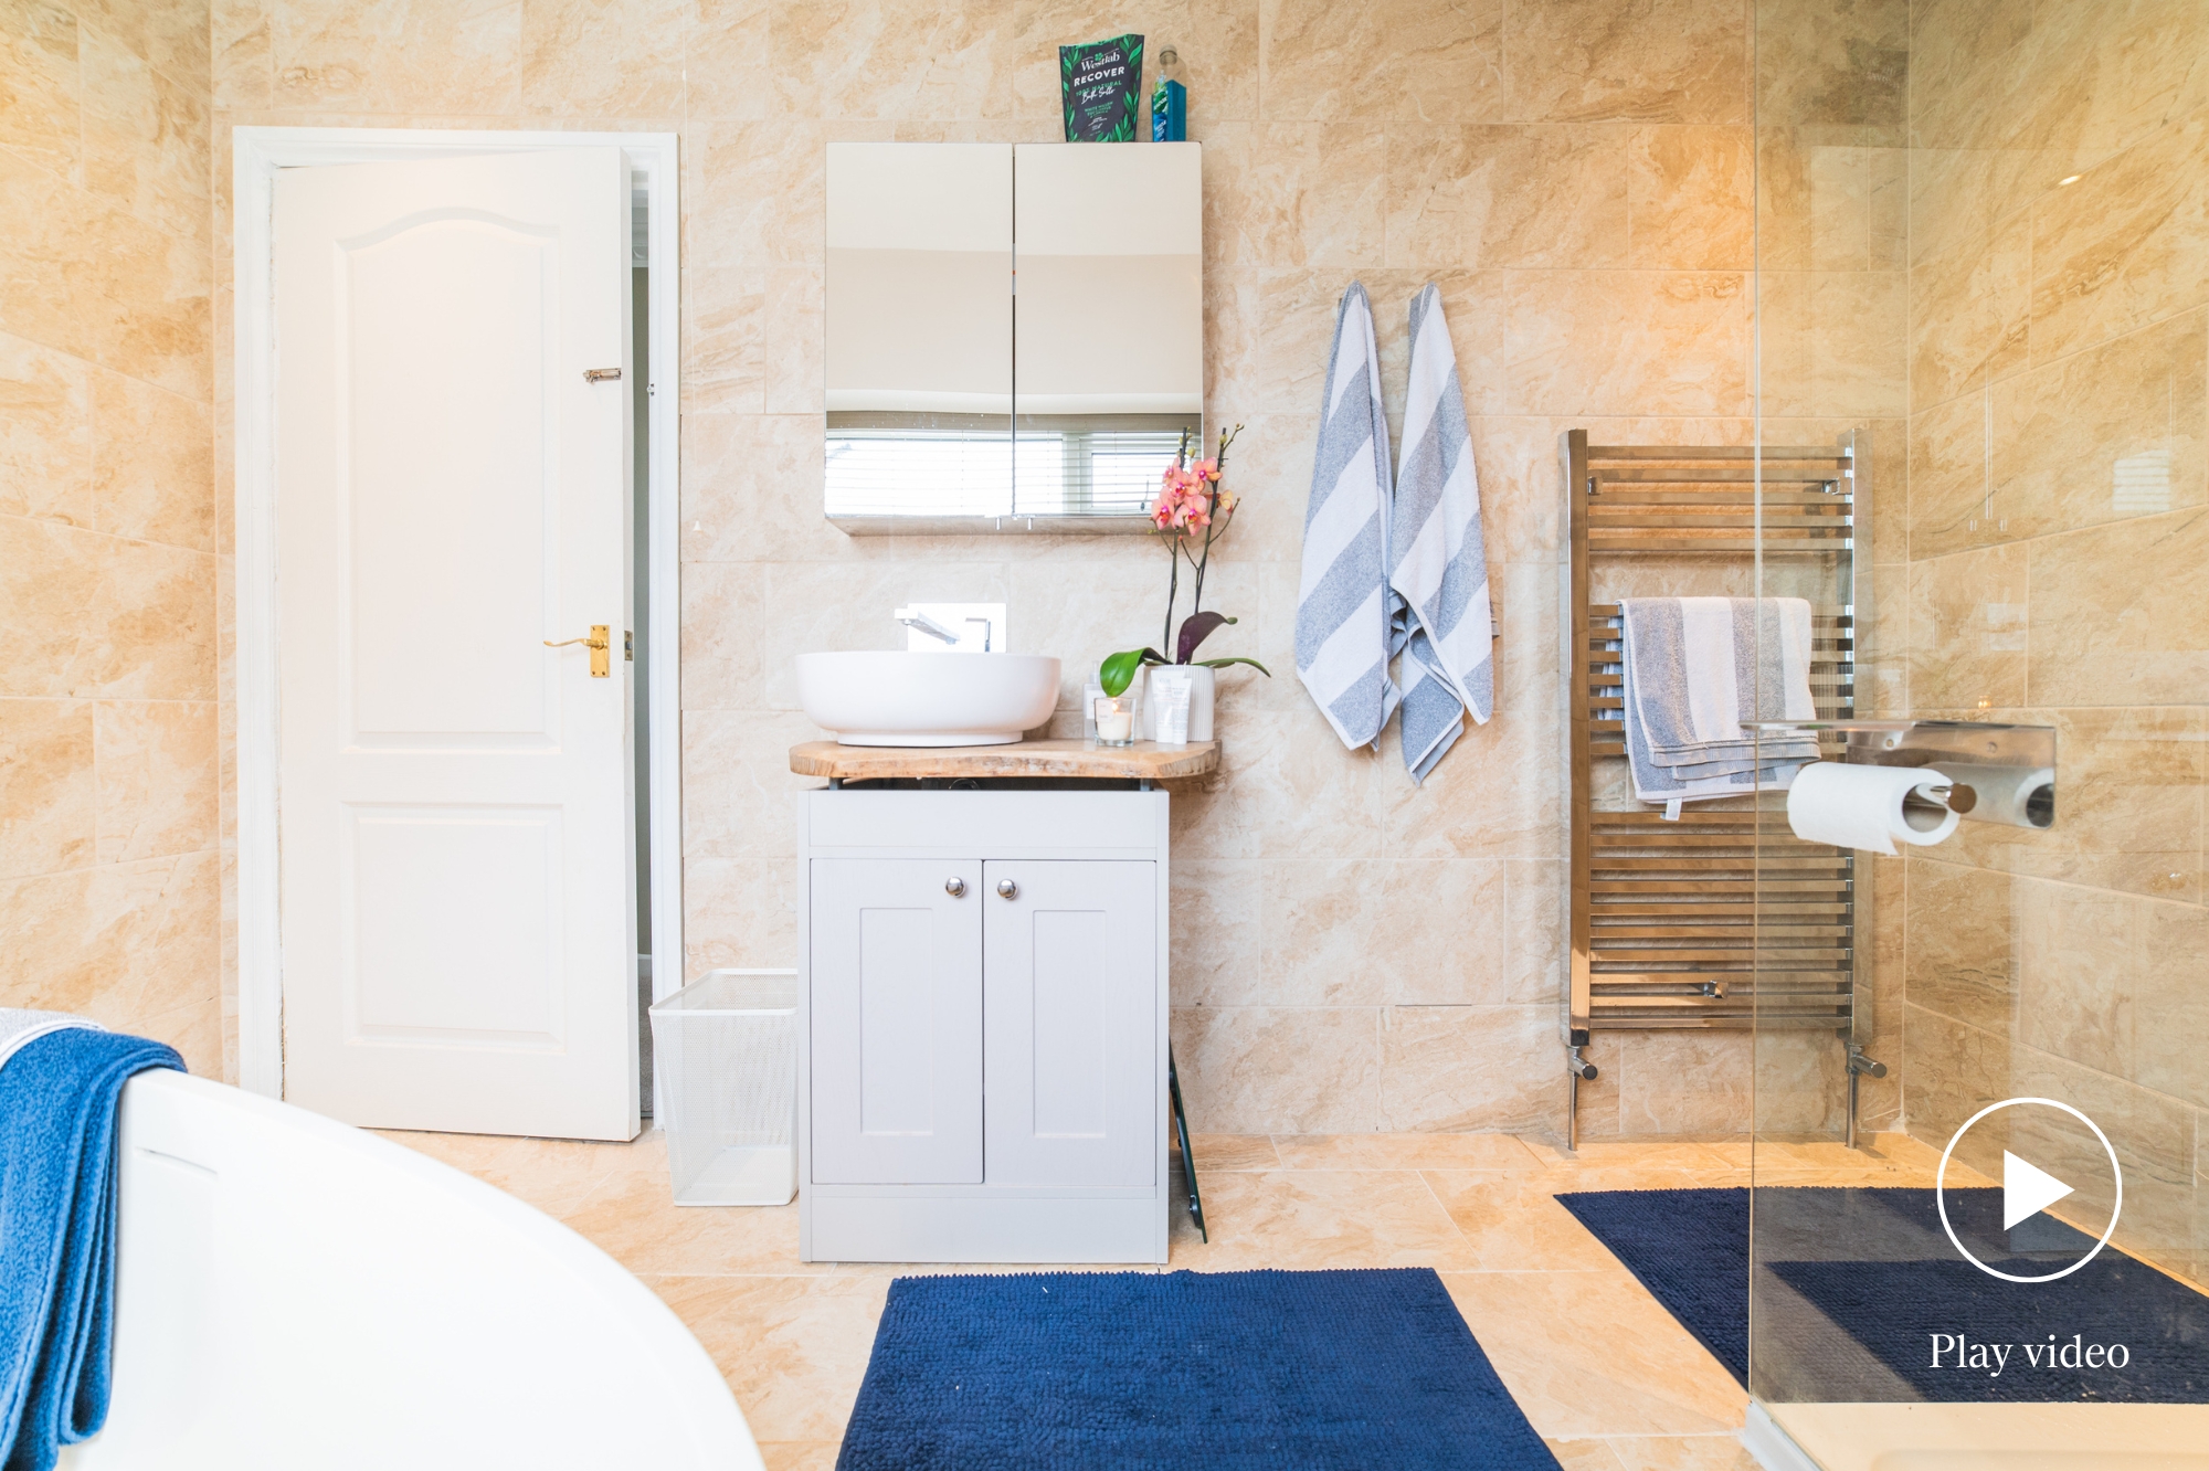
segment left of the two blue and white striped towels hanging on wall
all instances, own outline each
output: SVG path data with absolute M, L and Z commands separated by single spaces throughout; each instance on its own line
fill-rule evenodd
M 1328 389 L 1319 406 L 1312 504 L 1303 512 L 1297 588 L 1297 676 L 1350 749 L 1372 747 L 1401 698 L 1387 663 L 1389 457 L 1381 413 L 1374 311 L 1356 281 L 1334 314 Z

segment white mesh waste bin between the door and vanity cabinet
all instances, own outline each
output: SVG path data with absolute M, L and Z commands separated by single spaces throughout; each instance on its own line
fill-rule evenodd
M 678 1206 L 797 1195 L 797 972 L 716 970 L 652 1007 Z

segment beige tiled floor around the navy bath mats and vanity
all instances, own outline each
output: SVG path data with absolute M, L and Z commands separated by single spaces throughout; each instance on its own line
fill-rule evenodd
M 559 1217 L 647 1281 L 729 1376 L 773 1471 L 826 1469 L 890 1277 L 797 1261 L 797 1208 L 678 1208 L 656 1133 L 634 1144 L 393 1133 Z M 1513 1135 L 1199 1135 L 1211 1244 L 1173 1268 L 1427 1266 L 1566 1471 L 1747 1471 L 1741 1387 L 1553 1195 L 1750 1182 L 1747 1144 Z M 1763 1144 L 1763 1184 L 1931 1184 L 1900 1135 L 1869 1153 Z M 937 1268 L 945 1270 L 945 1268 Z M 961 1268 L 950 1268 L 961 1270 Z

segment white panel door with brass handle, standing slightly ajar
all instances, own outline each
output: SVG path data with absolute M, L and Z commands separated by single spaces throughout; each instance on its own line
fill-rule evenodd
M 349 1124 L 636 1135 L 627 194 L 276 177 L 285 1098 Z

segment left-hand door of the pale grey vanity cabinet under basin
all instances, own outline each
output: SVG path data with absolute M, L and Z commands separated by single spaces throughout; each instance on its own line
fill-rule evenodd
M 981 1184 L 981 864 L 811 877 L 813 1179 Z

